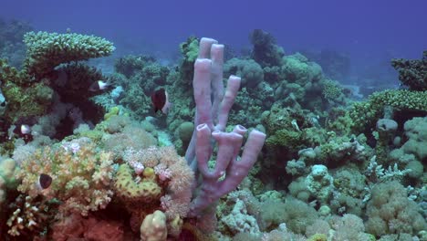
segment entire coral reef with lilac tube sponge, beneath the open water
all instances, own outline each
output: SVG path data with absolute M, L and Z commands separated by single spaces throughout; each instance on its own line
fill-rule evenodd
M 19 29 L 0 35 L 26 45 L 0 44 L 0 240 L 427 240 L 427 51 L 360 100 L 330 78 L 348 58 L 322 69 L 261 29 L 244 56 L 189 37 L 178 63 L 108 75 L 84 61 L 108 40 Z

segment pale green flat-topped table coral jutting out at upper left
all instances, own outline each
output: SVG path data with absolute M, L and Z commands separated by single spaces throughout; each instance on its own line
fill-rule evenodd
M 95 36 L 28 32 L 25 68 L 28 73 L 43 77 L 61 63 L 109 56 L 115 47 Z

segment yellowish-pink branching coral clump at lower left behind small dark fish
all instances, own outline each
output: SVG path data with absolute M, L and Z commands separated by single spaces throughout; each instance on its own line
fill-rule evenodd
M 32 198 L 39 194 L 56 198 L 62 202 L 59 209 L 65 214 L 88 215 L 89 211 L 105 208 L 111 200 L 112 163 L 111 152 L 99 151 L 88 138 L 64 141 L 36 150 L 21 163 L 17 176 L 22 183 L 17 189 Z M 44 190 L 38 187 L 41 173 L 53 179 Z

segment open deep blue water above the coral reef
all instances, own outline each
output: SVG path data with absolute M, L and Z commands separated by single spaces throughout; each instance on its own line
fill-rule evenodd
M 214 37 L 240 51 L 250 47 L 255 28 L 273 34 L 288 54 L 324 48 L 346 53 L 354 72 L 376 65 L 381 71 L 390 58 L 421 58 L 427 49 L 425 0 L 0 2 L 3 18 L 29 21 L 36 30 L 70 28 L 106 37 L 118 47 L 116 55 L 176 58 L 178 44 L 191 35 Z

